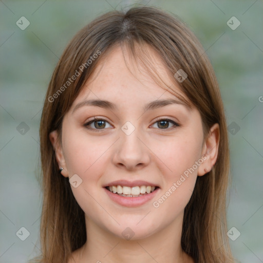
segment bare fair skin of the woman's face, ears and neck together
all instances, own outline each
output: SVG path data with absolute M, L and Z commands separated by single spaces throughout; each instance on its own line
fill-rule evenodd
M 153 50 L 156 68 L 170 86 L 164 65 Z M 192 195 L 197 176 L 209 172 L 216 162 L 219 142 L 218 124 L 203 138 L 202 122 L 196 108 L 171 104 L 143 110 L 145 104 L 176 99 L 135 66 L 120 47 L 106 57 L 101 71 L 95 70 L 63 119 L 62 143 L 57 131 L 50 134 L 62 175 L 77 174 L 82 183 L 71 189 L 85 212 L 87 242 L 72 254 L 69 262 L 194 262 L 181 249 L 184 208 Z M 107 100 L 117 109 L 98 106 L 74 107 L 85 100 Z M 178 100 L 178 99 L 177 99 Z M 104 128 L 85 123 L 93 117 L 104 119 Z M 157 122 L 170 119 L 173 123 Z M 129 121 L 135 127 L 126 135 L 121 127 Z M 166 123 L 165 128 L 160 124 Z M 97 122 L 98 124 L 98 122 Z M 159 126 L 158 126 L 159 125 Z M 97 127 L 97 130 L 96 130 Z M 158 208 L 153 202 L 180 179 L 187 168 L 202 156 L 206 159 Z M 145 180 L 159 185 L 153 200 L 128 208 L 112 201 L 103 185 L 115 180 Z M 129 227 L 130 240 L 122 236 Z

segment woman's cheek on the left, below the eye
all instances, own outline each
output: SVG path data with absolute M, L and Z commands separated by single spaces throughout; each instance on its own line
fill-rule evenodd
M 76 129 L 69 128 L 64 133 L 63 150 L 69 178 L 77 174 L 82 180 L 76 188 L 71 185 L 72 193 L 82 210 L 95 221 L 99 214 L 105 213 L 98 205 L 103 203 L 98 187 L 105 173 L 111 144 L 108 139 L 94 140 Z

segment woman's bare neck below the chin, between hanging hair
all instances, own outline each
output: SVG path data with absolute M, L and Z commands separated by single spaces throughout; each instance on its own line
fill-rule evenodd
M 183 216 L 183 215 L 182 215 Z M 87 242 L 73 253 L 77 263 L 189 263 L 181 248 L 182 217 L 143 239 L 126 240 L 86 218 Z

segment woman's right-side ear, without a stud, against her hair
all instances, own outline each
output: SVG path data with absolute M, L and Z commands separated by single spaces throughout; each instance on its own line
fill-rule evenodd
M 202 148 L 202 156 L 205 156 L 206 159 L 202 158 L 204 161 L 198 168 L 198 176 L 205 175 L 210 172 L 216 163 L 218 155 L 218 147 L 220 140 L 220 130 L 218 123 L 215 123 L 208 134 L 208 137 L 205 139 Z

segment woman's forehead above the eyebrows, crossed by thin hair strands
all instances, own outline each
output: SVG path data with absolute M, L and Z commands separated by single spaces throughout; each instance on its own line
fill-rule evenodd
M 104 54 L 73 105 L 87 98 L 114 100 L 121 97 L 123 102 L 173 99 L 174 91 L 185 98 L 156 51 L 147 45 L 138 44 L 135 48 L 136 55 L 120 45 Z M 144 54 L 143 58 L 140 54 Z

